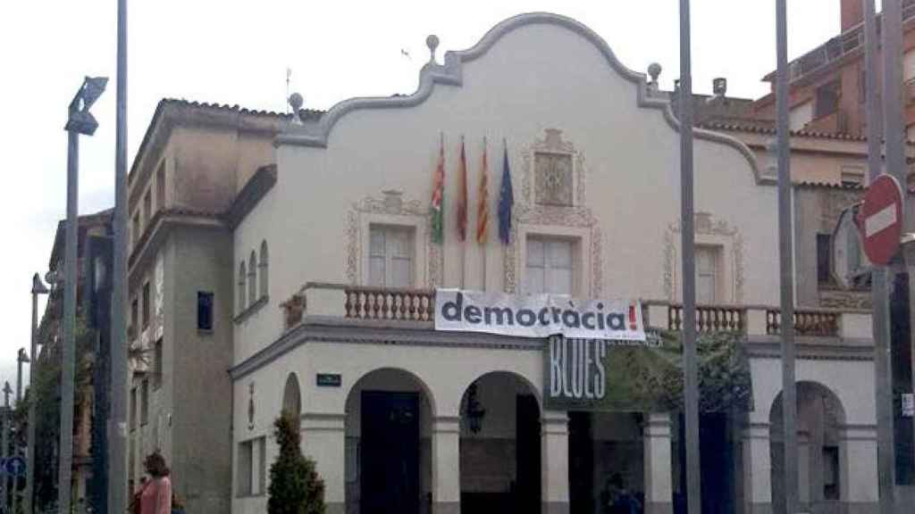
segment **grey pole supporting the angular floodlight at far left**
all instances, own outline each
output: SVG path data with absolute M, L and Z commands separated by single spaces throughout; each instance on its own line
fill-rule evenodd
M 64 243 L 63 358 L 60 384 L 60 458 L 58 508 L 70 512 L 70 477 L 73 464 L 73 375 L 75 366 L 77 212 L 79 205 L 80 134 L 67 132 L 67 231 Z

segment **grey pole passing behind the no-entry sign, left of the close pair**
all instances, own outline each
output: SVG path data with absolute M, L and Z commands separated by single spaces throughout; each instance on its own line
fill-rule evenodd
M 864 2 L 865 102 L 867 106 L 868 183 L 882 172 L 880 139 L 882 118 L 877 102 L 877 15 L 874 0 Z M 880 513 L 893 514 L 896 483 L 895 444 L 893 443 L 893 367 L 889 335 L 889 294 L 887 267 L 874 266 L 871 271 L 871 299 L 874 305 L 874 384 L 877 405 L 877 481 L 880 491 Z

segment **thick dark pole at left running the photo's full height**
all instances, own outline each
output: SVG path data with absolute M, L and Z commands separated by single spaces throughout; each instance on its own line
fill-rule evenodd
M 111 512 L 124 512 L 127 509 L 127 0 L 117 3 L 116 111 L 108 506 Z

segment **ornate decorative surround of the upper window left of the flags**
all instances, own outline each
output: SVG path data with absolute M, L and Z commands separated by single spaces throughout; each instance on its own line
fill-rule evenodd
M 382 197 L 365 197 L 353 202 L 346 220 L 346 278 L 350 284 L 360 284 L 362 242 L 360 238 L 362 214 L 388 214 L 411 216 L 422 219 L 425 223 L 425 252 L 427 254 L 425 285 L 435 287 L 442 284 L 442 252 L 439 245 L 432 241 L 432 217 L 427 204 L 412 198 L 404 198 L 403 191 L 388 189 L 382 191 Z M 416 241 L 421 244 L 421 241 Z

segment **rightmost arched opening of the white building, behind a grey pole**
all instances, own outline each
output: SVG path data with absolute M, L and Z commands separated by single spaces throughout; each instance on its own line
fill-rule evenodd
M 785 512 L 784 421 L 781 393 L 770 410 L 772 510 Z M 848 486 L 842 472 L 847 466 L 840 431 L 845 410 L 833 391 L 816 382 L 797 384 L 798 501 L 799 509 L 813 514 L 841 509 L 842 491 Z

